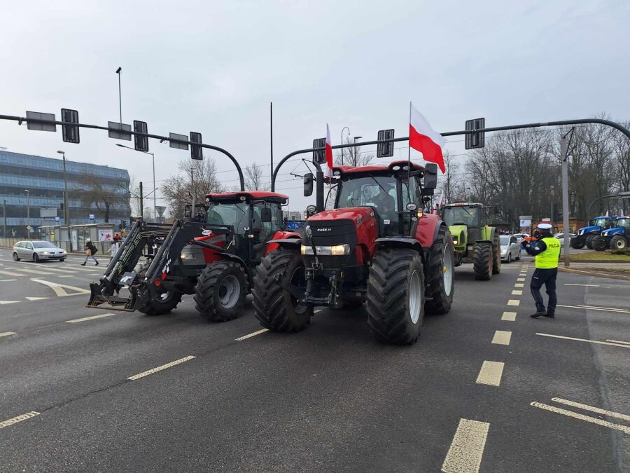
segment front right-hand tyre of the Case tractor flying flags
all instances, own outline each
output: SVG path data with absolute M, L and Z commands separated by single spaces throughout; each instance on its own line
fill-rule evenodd
M 414 249 L 379 249 L 367 280 L 367 324 L 379 341 L 415 343 L 424 319 L 424 273 Z

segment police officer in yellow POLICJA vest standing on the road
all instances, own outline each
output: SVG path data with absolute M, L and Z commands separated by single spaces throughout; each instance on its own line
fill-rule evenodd
M 535 242 L 525 245 L 525 251 L 535 256 L 535 270 L 529 283 L 531 295 L 536 304 L 536 312 L 531 314 L 533 319 L 540 317 L 555 317 L 556 312 L 556 276 L 558 275 L 558 260 L 560 259 L 560 242 L 551 234 L 550 224 L 538 224 L 540 236 Z M 540 288 L 545 285 L 549 301 L 545 310 L 545 301 L 540 294 Z

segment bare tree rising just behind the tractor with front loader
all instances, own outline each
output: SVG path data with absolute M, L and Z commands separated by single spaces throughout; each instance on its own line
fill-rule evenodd
M 207 194 L 223 191 L 213 159 L 183 159 L 178 167 L 179 174 L 169 177 L 160 186 L 172 216 L 183 216 L 184 207 L 192 203 L 191 196 L 197 203 L 203 203 Z

